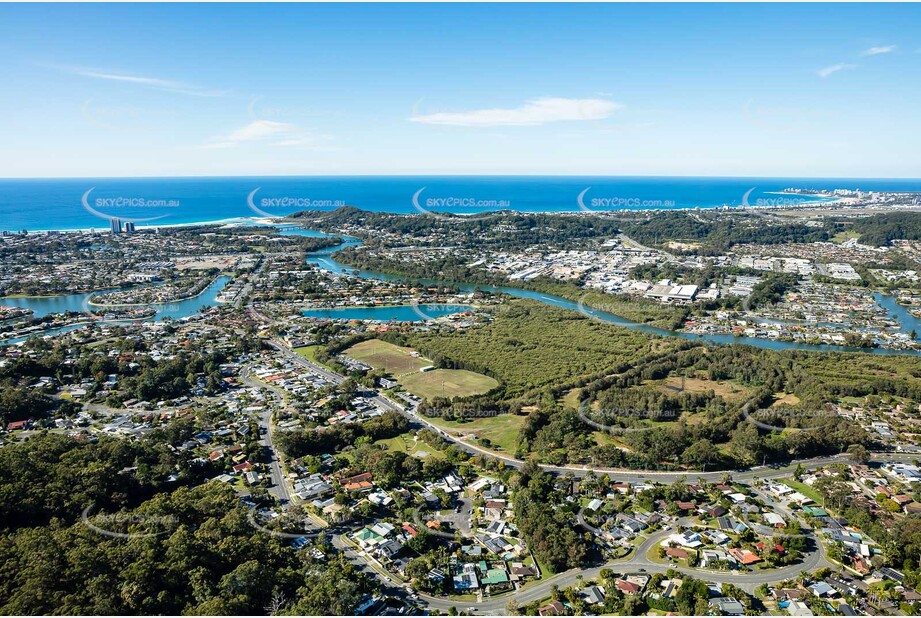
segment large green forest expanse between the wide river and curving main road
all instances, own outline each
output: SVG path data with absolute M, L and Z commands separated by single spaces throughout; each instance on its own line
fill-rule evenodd
M 921 359 L 913 356 L 702 345 L 529 300 L 499 307 L 480 328 L 384 338 L 420 350 L 438 366 L 500 382 L 485 395 L 431 402 L 421 412 L 431 405 L 457 417 L 468 409 L 526 414 L 516 455 L 553 464 L 712 470 L 837 453 L 853 444 L 872 448 L 871 437 L 829 404 L 868 396 L 921 401 Z M 695 388 L 680 388 L 682 377 Z M 783 394 L 793 403 L 777 409 Z

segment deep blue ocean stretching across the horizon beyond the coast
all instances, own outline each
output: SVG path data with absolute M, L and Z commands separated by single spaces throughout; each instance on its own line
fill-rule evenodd
M 0 230 L 106 229 L 370 211 L 572 212 L 790 205 L 790 187 L 921 191 L 919 180 L 574 176 L 336 176 L 0 180 Z M 811 201 L 815 201 L 814 199 Z

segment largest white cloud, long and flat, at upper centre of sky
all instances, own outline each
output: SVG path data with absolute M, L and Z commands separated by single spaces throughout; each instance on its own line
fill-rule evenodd
M 623 105 L 604 99 L 566 99 L 543 97 L 520 107 L 479 109 L 467 112 L 413 114 L 410 120 L 422 124 L 459 127 L 533 126 L 548 122 L 602 120 Z

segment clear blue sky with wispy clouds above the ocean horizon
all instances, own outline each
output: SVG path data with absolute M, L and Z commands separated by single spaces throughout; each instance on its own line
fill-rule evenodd
M 0 175 L 921 177 L 921 6 L 0 5 Z

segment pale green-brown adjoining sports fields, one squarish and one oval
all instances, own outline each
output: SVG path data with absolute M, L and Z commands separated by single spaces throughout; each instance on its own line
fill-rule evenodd
M 394 375 L 400 386 L 425 399 L 442 395 L 448 398 L 469 397 L 499 385 L 489 376 L 463 369 L 433 369 L 421 373 L 419 370 L 430 366 L 432 361 L 413 356 L 412 352 L 412 348 L 401 348 L 385 341 L 370 339 L 353 345 L 343 354 Z

